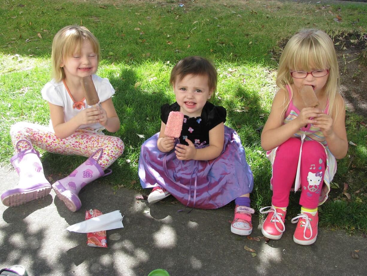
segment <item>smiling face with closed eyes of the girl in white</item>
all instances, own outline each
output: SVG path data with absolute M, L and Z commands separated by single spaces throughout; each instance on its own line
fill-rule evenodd
M 90 76 L 97 72 L 98 56 L 89 40 L 84 40 L 80 51 L 72 53 L 62 60 L 60 67 L 68 79 L 76 79 Z

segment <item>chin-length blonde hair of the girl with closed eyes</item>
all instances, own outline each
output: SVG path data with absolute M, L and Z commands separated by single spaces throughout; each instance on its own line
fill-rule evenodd
M 66 57 L 72 56 L 75 51 L 79 51 L 83 42 L 88 40 L 93 47 L 93 51 L 97 54 L 99 62 L 99 42 L 97 38 L 83 26 L 66 26 L 62 28 L 54 37 L 52 41 L 52 78 L 55 81 L 61 81 L 65 78 L 65 72 L 60 67 Z

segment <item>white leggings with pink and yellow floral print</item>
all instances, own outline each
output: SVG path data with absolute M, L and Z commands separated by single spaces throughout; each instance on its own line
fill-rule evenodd
M 97 149 L 103 154 L 98 164 L 107 169 L 124 152 L 124 143 L 119 137 L 103 135 L 83 129 L 77 130 L 67 138 L 59 139 L 54 131 L 43 125 L 19 122 L 10 128 L 11 141 L 14 148 L 19 139 L 26 139 L 45 151 L 62 155 L 80 155 L 90 157 Z M 19 150 L 28 149 L 28 145 L 19 143 Z

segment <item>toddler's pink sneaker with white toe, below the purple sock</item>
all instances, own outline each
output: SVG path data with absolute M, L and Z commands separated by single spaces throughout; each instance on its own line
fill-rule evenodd
M 252 232 L 251 214 L 253 213 L 255 210 L 250 207 L 236 205 L 230 231 L 241 236 L 250 235 Z

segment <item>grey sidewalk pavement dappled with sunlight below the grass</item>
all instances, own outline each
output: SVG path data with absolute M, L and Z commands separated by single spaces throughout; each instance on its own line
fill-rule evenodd
M 18 182 L 14 170 L 0 170 L 1 191 Z M 136 200 L 134 191 L 95 181 L 80 193 L 82 208 L 66 209 L 52 190 L 44 199 L 7 208 L 0 205 L 0 267 L 25 266 L 29 276 L 148 275 L 157 268 L 185 275 L 366 275 L 367 240 L 344 231 L 319 229 L 315 244 L 292 240 L 287 221 L 279 241 L 248 240 L 230 232 L 233 210 L 177 212 L 181 204 Z M 86 234 L 66 231 L 91 208 L 121 210 L 124 228 L 107 231 L 108 248 L 86 244 Z M 262 236 L 258 216 L 252 237 Z M 255 250 L 256 256 L 244 250 Z M 359 250 L 359 259 L 351 252 Z

